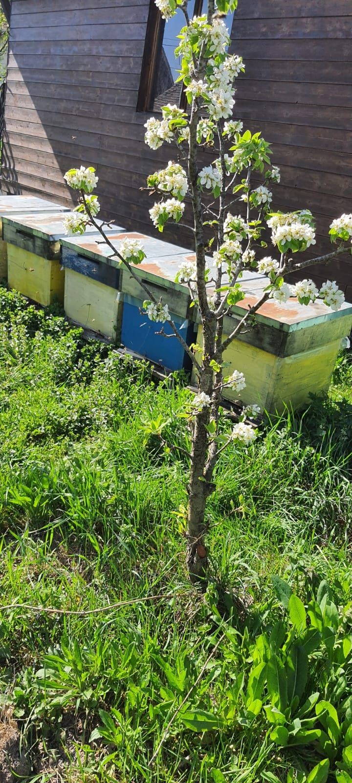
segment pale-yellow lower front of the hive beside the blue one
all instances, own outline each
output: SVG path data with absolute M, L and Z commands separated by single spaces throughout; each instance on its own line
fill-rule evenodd
M 119 292 L 91 277 L 66 269 L 66 316 L 85 329 L 92 329 L 110 340 L 118 338 L 120 328 Z

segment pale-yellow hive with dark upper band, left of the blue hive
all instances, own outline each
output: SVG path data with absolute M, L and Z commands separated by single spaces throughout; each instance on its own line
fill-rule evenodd
M 124 229 L 106 229 L 117 244 Z M 62 240 L 65 269 L 64 308 L 67 318 L 113 342 L 120 343 L 122 298 L 119 294 L 120 265 L 113 265 L 109 245 L 100 234 L 65 237 Z

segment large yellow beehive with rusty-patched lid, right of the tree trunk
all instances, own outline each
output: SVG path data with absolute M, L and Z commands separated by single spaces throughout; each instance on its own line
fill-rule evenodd
M 232 334 L 246 309 L 258 301 L 263 287 L 258 280 L 246 281 L 246 298 L 224 318 L 224 337 Z M 311 395 L 329 388 L 341 340 L 351 327 L 352 305 L 348 303 L 333 312 L 322 301 L 308 306 L 296 298 L 286 305 L 267 301 L 257 312 L 255 326 L 239 334 L 224 352 L 228 374 L 239 370 L 246 377 L 246 388 L 236 395 L 224 389 L 224 398 L 256 403 L 268 413 L 309 405 Z M 199 325 L 197 342 L 202 345 L 202 341 Z

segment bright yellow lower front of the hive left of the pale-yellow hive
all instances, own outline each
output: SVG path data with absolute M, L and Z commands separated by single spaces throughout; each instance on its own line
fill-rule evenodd
M 40 258 L 12 244 L 8 244 L 7 254 L 9 287 L 16 288 L 20 294 L 37 301 L 39 305 L 50 305 L 51 269 L 52 264 L 58 262 Z

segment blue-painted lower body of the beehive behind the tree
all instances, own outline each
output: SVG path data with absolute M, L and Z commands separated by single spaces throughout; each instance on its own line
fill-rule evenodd
M 125 348 L 140 353 L 145 359 L 157 362 L 167 370 L 191 370 L 191 360 L 177 337 L 163 337 L 156 334 L 163 327 L 166 334 L 174 334 L 169 323 L 154 323 L 142 315 L 139 308 L 142 301 L 124 296 L 121 343 Z M 196 342 L 195 324 L 182 321 L 178 316 L 171 318 L 188 345 Z

